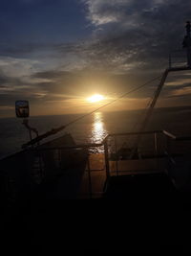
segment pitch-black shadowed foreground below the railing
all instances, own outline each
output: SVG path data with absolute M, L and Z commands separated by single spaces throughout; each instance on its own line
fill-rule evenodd
M 99 199 L 39 195 L 20 201 L 10 218 L 2 216 L 2 249 L 19 255 L 190 252 L 190 234 L 179 231 L 189 224 L 184 199 L 163 174 L 111 177 Z

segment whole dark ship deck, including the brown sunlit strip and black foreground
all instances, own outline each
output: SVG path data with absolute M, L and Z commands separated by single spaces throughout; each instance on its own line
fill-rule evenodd
M 171 182 L 169 157 L 108 158 L 109 165 L 104 153 L 91 153 L 88 159 L 77 194 L 75 167 L 37 185 L 13 216 L 9 212 L 1 218 L 2 248 L 19 255 L 190 252 L 190 236 L 180 233 L 182 241 L 177 239 L 178 221 L 169 227 L 190 198 Z M 174 157 L 181 168 L 186 159 Z

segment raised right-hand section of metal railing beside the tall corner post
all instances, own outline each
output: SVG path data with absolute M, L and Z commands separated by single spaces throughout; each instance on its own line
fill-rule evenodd
M 159 157 L 164 156 L 165 140 L 161 135 L 164 135 L 162 130 L 109 134 L 105 139 L 110 144 L 109 159 L 113 161 L 113 170 L 109 170 L 109 173 L 120 175 L 123 173 L 128 174 L 128 172 L 138 172 L 138 170 L 134 170 L 134 166 L 132 165 L 135 165 L 135 168 L 137 165 L 138 168 L 139 160 L 141 160 L 141 164 L 143 162 L 146 164 L 148 159 L 158 160 Z M 140 142 L 138 143 L 135 154 L 130 158 L 129 156 L 131 155 L 132 149 L 136 146 L 135 141 L 137 141 L 136 138 L 138 136 L 140 136 Z M 156 169 L 157 164 L 156 162 L 155 167 L 153 166 L 152 168 Z M 120 166 L 122 170 L 120 170 Z M 145 165 L 144 171 L 149 171 L 147 165 Z

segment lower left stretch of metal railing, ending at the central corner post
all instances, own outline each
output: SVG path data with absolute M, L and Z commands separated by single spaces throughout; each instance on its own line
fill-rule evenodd
M 96 159 L 92 158 L 94 153 L 91 151 L 97 148 L 103 148 L 105 152 L 101 154 L 102 158 L 100 154 L 95 154 L 99 156 L 98 161 L 101 160 L 98 165 Z M 4 192 L 7 194 L 9 203 L 16 198 L 28 197 L 42 184 L 53 183 L 60 178 L 66 179 L 63 186 L 68 186 L 69 191 L 68 195 L 63 198 L 72 198 L 71 191 L 76 198 L 78 196 L 81 198 L 100 197 L 102 191 L 95 191 L 93 175 L 100 172 L 104 173 L 107 178 L 108 167 L 106 143 L 29 149 L 12 154 L 0 161 L 0 173 L 4 177 L 1 181 L 4 183 Z M 88 187 L 88 191 L 85 191 L 86 195 L 80 195 L 80 191 L 77 195 L 78 192 L 70 188 L 71 185 L 73 189 L 80 190 L 81 182 Z M 67 194 L 66 190 L 65 192 Z

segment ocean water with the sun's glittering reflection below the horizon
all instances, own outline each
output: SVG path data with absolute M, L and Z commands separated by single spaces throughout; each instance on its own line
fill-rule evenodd
M 30 118 L 30 125 L 39 134 L 52 128 L 66 125 L 80 115 L 38 116 Z M 145 110 L 118 112 L 96 112 L 83 118 L 72 126 L 51 136 L 48 140 L 71 133 L 77 144 L 100 143 L 108 133 L 131 132 L 138 130 Z M 191 107 L 156 109 L 147 130 L 165 129 L 176 135 L 187 135 L 191 130 Z M 20 151 L 21 146 L 30 140 L 29 132 L 17 118 L 0 119 L 0 158 Z

